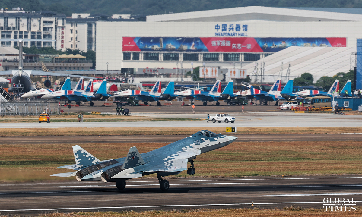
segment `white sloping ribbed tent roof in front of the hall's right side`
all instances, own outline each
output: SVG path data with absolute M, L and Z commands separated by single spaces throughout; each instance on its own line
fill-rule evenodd
M 311 73 L 314 81 L 322 76 L 334 76 L 338 72 L 349 72 L 351 53 L 356 47 L 288 47 L 264 59 L 258 60 L 258 67 L 265 63 L 265 81 L 274 82 L 282 77 L 286 81 L 286 73 L 290 63 L 290 79 L 299 77 L 305 72 Z M 355 57 L 355 56 L 353 56 Z M 283 64 L 283 72 L 281 67 Z M 255 62 L 243 66 L 248 75 L 252 75 Z M 279 78 L 278 78 L 279 76 Z

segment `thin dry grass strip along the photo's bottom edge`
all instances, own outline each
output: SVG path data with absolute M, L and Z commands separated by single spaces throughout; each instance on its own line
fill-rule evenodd
M 73 213 L 48 213 L 40 214 L 40 217 L 358 217 L 362 215 L 362 209 L 357 207 L 356 212 L 327 213 L 322 209 L 303 209 L 300 207 L 286 207 L 284 209 L 182 209 L 182 210 L 151 210 L 143 212 L 73 212 Z

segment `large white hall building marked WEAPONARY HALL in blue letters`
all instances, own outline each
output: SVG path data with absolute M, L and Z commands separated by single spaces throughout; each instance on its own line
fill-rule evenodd
M 282 61 L 291 64 L 290 78 L 302 72 L 320 77 L 348 71 L 349 53 L 355 52 L 356 39 L 362 37 L 362 9 L 251 6 L 147 16 L 145 22 L 97 21 L 96 25 L 96 70 L 147 73 L 147 69 L 171 72 L 183 67 L 190 71 L 205 63 L 219 69 L 241 67 L 251 75 L 258 61 L 265 62 L 265 81 L 273 82 Z M 271 61 L 270 55 L 277 52 L 284 56 Z M 345 60 L 338 65 L 319 61 L 329 67 L 308 68 L 291 57 L 312 59 L 328 53 L 343 53 L 340 58 Z M 275 67 L 268 67 L 268 62 Z M 294 67 L 297 62 L 299 67 Z M 304 64 L 311 62 L 317 61 Z M 285 72 L 287 68 L 284 66 Z

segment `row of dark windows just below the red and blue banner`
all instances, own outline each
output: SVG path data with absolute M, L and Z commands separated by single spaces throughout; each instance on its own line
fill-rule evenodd
M 271 53 L 155 53 L 123 52 L 123 60 L 153 61 L 257 61 Z

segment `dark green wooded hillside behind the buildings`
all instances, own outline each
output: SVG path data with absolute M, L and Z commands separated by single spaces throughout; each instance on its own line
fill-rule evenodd
M 52 10 L 72 13 L 144 14 L 180 13 L 246 6 L 362 8 L 362 0 L 2 0 L 1 8 L 21 7 L 26 11 Z

